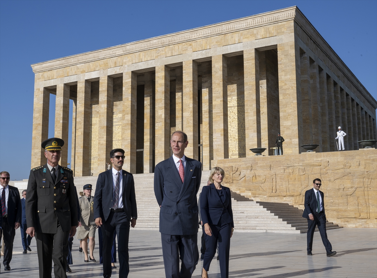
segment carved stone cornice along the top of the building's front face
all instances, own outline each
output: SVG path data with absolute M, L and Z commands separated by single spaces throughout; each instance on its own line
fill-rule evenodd
M 54 59 L 42 63 L 32 64 L 34 73 L 59 69 L 62 67 L 74 66 L 77 64 L 113 58 L 130 53 L 145 51 L 158 47 L 170 46 L 187 41 L 199 40 L 202 38 L 214 37 L 231 32 L 242 31 L 254 27 L 265 26 L 287 20 L 293 20 L 296 15 L 296 6 L 280 9 L 250 17 L 211 24 L 204 27 L 181 31 L 173 34 L 163 35 L 118 46 L 107 47 L 95 51 Z

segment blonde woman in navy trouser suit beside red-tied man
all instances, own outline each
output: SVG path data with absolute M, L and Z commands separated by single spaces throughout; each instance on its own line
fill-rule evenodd
M 219 243 L 220 272 L 222 278 L 229 276 L 230 238 L 233 235 L 234 223 L 230 189 L 222 186 L 224 170 L 214 167 L 210 173 L 209 186 L 202 189 L 200 212 L 205 231 L 205 250 L 202 277 L 208 277 L 216 246 Z

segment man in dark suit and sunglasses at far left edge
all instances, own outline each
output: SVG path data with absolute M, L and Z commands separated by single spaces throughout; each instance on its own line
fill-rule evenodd
M 21 200 L 18 188 L 8 185 L 10 175 L 3 171 L 0 173 L 0 196 L 2 208 L 2 231 L 0 241 L 4 236 L 4 260 L 3 264 L 6 271 L 11 270 L 9 263 L 12 260 L 13 240 L 16 229 L 21 223 Z

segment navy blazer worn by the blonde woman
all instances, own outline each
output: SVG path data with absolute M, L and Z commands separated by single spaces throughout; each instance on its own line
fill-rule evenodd
M 200 198 L 200 214 L 203 225 L 205 223 L 217 225 L 221 218 L 222 224 L 231 223 L 234 228 L 230 189 L 222 186 L 222 192 L 225 196 L 224 203 L 221 202 L 217 190 L 213 183 L 209 186 L 203 186 Z

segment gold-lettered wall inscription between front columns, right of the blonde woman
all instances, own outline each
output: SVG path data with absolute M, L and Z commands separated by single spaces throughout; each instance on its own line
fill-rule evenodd
M 245 98 L 228 98 L 229 158 L 246 157 L 245 147 Z

